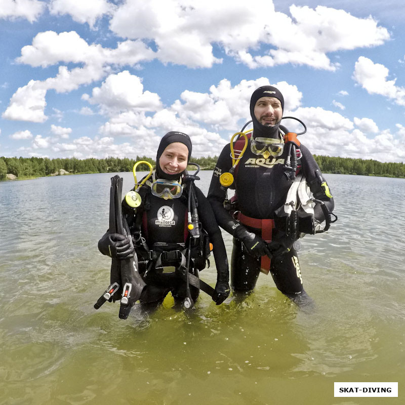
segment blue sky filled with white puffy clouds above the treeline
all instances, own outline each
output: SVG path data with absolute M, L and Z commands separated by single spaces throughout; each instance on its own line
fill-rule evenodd
M 402 3 L 0 0 L 0 156 L 218 155 L 271 84 L 312 153 L 405 161 Z

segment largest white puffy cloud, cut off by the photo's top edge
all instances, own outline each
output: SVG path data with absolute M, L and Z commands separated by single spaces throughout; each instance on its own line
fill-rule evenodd
M 255 7 L 233 0 L 133 1 L 117 7 L 110 29 L 121 37 L 152 40 L 160 61 L 188 67 L 221 62 L 213 53 L 216 44 L 251 68 L 294 63 L 335 70 L 329 53 L 378 46 L 390 37 L 373 18 L 343 10 L 293 5 L 290 13 L 276 12 L 268 0 L 257 0 Z

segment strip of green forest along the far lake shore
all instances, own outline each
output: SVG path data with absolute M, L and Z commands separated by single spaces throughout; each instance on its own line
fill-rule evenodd
M 364 176 L 383 176 L 405 178 L 405 165 L 403 163 L 382 163 L 377 160 L 353 159 L 349 157 L 331 157 L 314 155 L 322 173 L 354 174 Z M 201 170 L 214 170 L 218 156 L 192 157 L 191 161 L 197 163 Z M 84 173 L 115 173 L 132 172 L 136 161 L 146 160 L 155 165 L 155 160 L 146 156 L 137 156 L 136 159 L 108 157 L 106 159 L 49 159 L 44 157 L 0 157 L 0 180 L 6 174 L 13 174 L 18 179 L 29 179 L 59 174 L 63 169 L 69 174 Z M 148 171 L 146 165 L 140 165 L 138 171 Z

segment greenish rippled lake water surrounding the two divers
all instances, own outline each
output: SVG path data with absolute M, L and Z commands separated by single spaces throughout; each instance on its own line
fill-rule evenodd
M 301 239 L 310 313 L 261 274 L 242 302 L 201 293 L 184 312 L 168 297 L 121 320 L 117 303 L 93 308 L 112 175 L 0 183 L 1 404 L 405 403 L 404 179 L 325 176 L 339 220 Z M 215 285 L 214 263 L 201 278 Z M 335 398 L 339 381 L 398 382 L 399 396 Z

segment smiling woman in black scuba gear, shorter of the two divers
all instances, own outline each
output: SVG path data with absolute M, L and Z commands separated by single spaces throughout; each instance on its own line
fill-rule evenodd
M 139 273 L 146 283 L 140 296 L 144 304 L 161 303 L 172 292 L 175 301 L 183 301 L 186 308 L 192 306 L 199 288 L 203 289 L 197 277 L 198 271 L 206 267 L 210 242 L 217 267 L 212 299 L 218 305 L 229 295 L 228 261 L 221 230 L 207 198 L 194 185 L 193 180 L 198 178 L 186 171 L 191 150 L 188 135 L 167 133 L 157 149 L 152 179 L 144 179 L 140 187 L 136 184 L 130 191 L 136 190 L 138 204 L 133 206 L 127 198 L 123 200 L 123 215 L 135 245 Z M 102 254 L 120 260 L 134 255 L 128 237 L 108 231 L 98 248 Z

